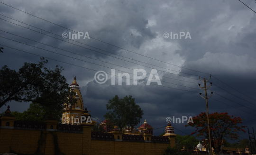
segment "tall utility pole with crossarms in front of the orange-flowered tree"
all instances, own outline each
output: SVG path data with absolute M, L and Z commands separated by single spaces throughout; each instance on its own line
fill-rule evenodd
M 199 79 L 200 79 L 200 77 L 199 77 Z M 209 78 L 210 79 L 210 78 Z M 209 80 L 208 79 L 208 80 Z M 200 79 L 201 80 L 201 79 Z M 203 78 L 203 83 L 204 83 L 204 87 L 201 87 L 200 86 L 200 84 L 198 84 L 199 85 L 199 87 L 202 89 L 202 90 L 204 90 L 204 92 L 205 92 L 205 98 L 204 97 L 202 97 L 201 96 L 201 94 L 202 93 L 199 93 L 200 94 L 200 96 L 202 97 L 202 98 L 204 98 L 205 100 L 206 100 L 206 109 L 207 109 L 207 124 L 208 124 L 208 132 L 209 132 L 209 142 L 210 142 L 210 155 L 212 155 L 212 152 L 211 152 L 211 139 L 210 139 L 210 124 L 209 124 L 209 112 L 208 112 L 208 102 L 207 102 L 207 100 L 212 96 L 212 93 L 213 92 L 211 92 L 211 95 L 210 96 L 207 96 L 207 90 L 210 88 L 210 86 L 211 86 L 211 82 L 210 82 L 210 86 L 208 86 L 208 87 L 206 87 L 206 82 L 208 82 L 208 80 L 206 81 L 205 80 L 205 78 Z

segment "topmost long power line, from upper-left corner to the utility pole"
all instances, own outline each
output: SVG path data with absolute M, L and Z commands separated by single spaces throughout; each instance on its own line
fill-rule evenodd
M 3 3 L 3 2 L 0 2 L 0 3 L 2 3 L 2 4 L 4 4 L 4 5 L 7 5 L 7 4 L 5 4 L 5 3 Z M 9 5 L 7 5 L 7 6 L 9 6 Z M 13 8 L 13 9 L 17 9 L 17 8 L 12 7 L 12 6 L 9 6 L 9 7 Z M 20 9 L 17 9 L 17 10 L 19 10 L 19 11 L 21 11 L 21 12 L 24 12 L 24 13 L 27 13 L 27 12 L 22 11 L 22 10 L 20 10 Z M 29 14 L 29 13 L 27 13 L 27 14 L 28 14 L 28 15 L 31 15 L 31 16 L 33 16 L 33 17 L 39 18 L 39 17 L 37 17 L 37 16 L 35 16 L 35 15 Z M 52 24 L 54 24 L 54 25 L 56 25 L 56 26 L 63 27 L 63 26 L 60 26 L 60 25 L 55 24 L 55 23 L 53 23 L 53 22 L 50 22 L 50 21 L 48 21 L 48 20 L 46 20 L 46 19 L 43 19 L 43 18 L 39 18 L 39 19 L 42 19 L 42 20 L 47 21 L 47 22 L 49 22 L 49 23 L 52 23 Z M 74 30 L 69 29 L 69 28 L 66 28 L 66 27 L 63 27 L 63 28 L 68 29 L 68 30 L 70 30 L 70 31 L 73 31 L 73 32 L 75 32 L 75 33 L 78 33 L 78 32 L 76 32 L 76 31 L 74 31 Z M 83 35 L 83 36 L 85 36 L 85 35 Z M 93 37 L 91 37 L 91 38 L 92 38 L 92 39 L 95 39 L 95 40 L 97 40 L 97 41 L 100 41 L 100 42 L 102 42 L 102 43 L 105 43 L 105 44 L 108 44 L 108 45 L 111 45 L 111 46 L 115 46 L 115 45 L 106 43 L 106 42 L 104 42 L 104 41 L 101 41 L 101 40 L 99 40 L 99 39 L 96 39 L 96 38 L 93 38 Z M 119 46 L 115 46 L 115 47 L 118 47 L 118 48 L 120 48 L 120 49 L 126 50 L 126 51 L 128 51 L 128 52 L 132 52 L 132 51 L 129 51 L 129 50 L 124 49 L 124 48 L 119 47 Z M 137 55 L 141 55 L 141 54 L 138 54 L 138 53 L 136 53 L 136 52 L 132 52 L 132 53 L 137 54 Z M 146 56 L 146 55 L 141 55 L 141 56 L 145 56 L 145 57 L 147 57 L 147 58 L 150 58 L 150 59 L 153 59 L 153 60 L 156 60 L 156 61 L 160 61 L 160 62 L 162 62 L 162 63 L 166 63 L 166 62 L 164 62 L 164 61 L 157 60 L 157 59 L 155 59 L 155 58 L 151 58 L 151 57 L 148 57 L 148 56 Z M 166 64 L 170 64 L 170 63 L 166 63 Z M 188 70 L 191 70 L 191 71 L 194 71 L 194 72 L 203 73 L 203 72 L 200 72 L 200 71 L 195 71 L 195 70 L 192 70 L 192 69 L 189 69 L 189 68 L 185 68 L 185 67 L 182 67 L 182 66 L 178 66 L 178 65 L 175 65 L 175 64 L 171 64 L 171 65 L 174 65 L 174 66 L 177 66 L 177 67 L 181 67 L 181 68 L 184 68 L 184 69 L 188 69 Z M 205 73 L 205 74 L 209 74 L 209 73 Z

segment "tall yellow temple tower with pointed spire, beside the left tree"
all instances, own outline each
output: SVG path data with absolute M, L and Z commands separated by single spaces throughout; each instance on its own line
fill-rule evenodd
M 74 98 L 77 99 L 77 103 L 73 106 L 71 106 L 70 104 L 65 105 L 66 108 L 64 108 L 64 112 L 62 114 L 62 124 L 79 124 L 78 119 L 81 120 L 80 116 L 84 113 L 84 107 L 82 95 L 75 77 L 73 83 L 70 85 L 70 88 L 71 91 L 76 92 Z

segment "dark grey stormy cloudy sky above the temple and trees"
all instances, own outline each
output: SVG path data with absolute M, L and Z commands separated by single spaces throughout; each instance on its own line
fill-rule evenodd
M 76 76 L 85 107 L 100 120 L 107 112 L 107 101 L 115 95 L 132 95 L 144 110 L 137 127 L 144 119 L 154 128 L 161 128 L 167 125 L 167 117 L 196 116 L 206 111 L 205 100 L 199 95 L 204 93 L 198 86 L 203 84 L 199 76 L 208 79 L 210 74 L 210 90 L 216 92 L 209 99 L 210 113 L 228 112 L 244 121 L 256 119 L 256 13 L 238 0 L 1 2 L 16 9 L 0 3 L 0 45 L 4 47 L 0 66 L 6 64 L 18 70 L 25 62 L 38 63 L 40 56 L 50 58 L 46 67 L 63 66 L 62 74 L 68 83 Z M 256 10 L 254 0 L 243 2 Z M 72 30 L 88 34 L 90 39 L 75 38 L 77 33 Z M 62 37 L 64 33 L 67 38 Z M 172 34 L 178 34 L 178 39 Z M 111 69 L 115 69 L 115 85 L 111 85 Z M 133 73 L 141 69 L 146 71 L 146 78 L 135 85 Z M 152 69 L 162 85 L 158 85 L 159 81 L 146 85 L 155 71 Z M 95 81 L 97 71 L 107 73 L 105 83 Z M 125 78 L 119 85 L 118 73 L 129 73 L 130 85 Z M 138 72 L 138 76 L 142 75 Z M 8 105 L 12 111 L 22 112 L 29 103 Z M 0 111 L 5 109 L 3 106 Z M 256 121 L 245 125 L 251 129 Z M 185 128 L 185 123 L 172 126 L 189 134 L 194 131 Z M 157 136 L 164 131 L 161 128 L 153 133 Z M 185 135 L 177 130 L 175 133 Z M 241 137 L 247 138 L 247 133 Z

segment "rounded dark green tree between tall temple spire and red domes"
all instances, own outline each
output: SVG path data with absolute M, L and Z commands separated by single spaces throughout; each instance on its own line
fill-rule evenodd
M 119 99 L 116 95 L 106 104 L 108 111 L 104 117 L 112 122 L 117 122 L 117 125 L 122 130 L 125 126 L 134 128 L 140 123 L 140 119 L 144 115 L 143 110 L 135 103 L 135 98 L 129 95 L 123 99 Z

